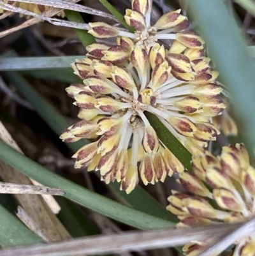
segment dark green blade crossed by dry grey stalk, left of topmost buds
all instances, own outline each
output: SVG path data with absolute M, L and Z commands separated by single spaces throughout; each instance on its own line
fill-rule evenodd
M 64 13 L 66 13 L 66 17 L 68 18 L 68 20 L 84 23 L 82 15 L 80 15 L 80 13 L 78 13 L 77 11 L 65 10 Z M 95 38 L 91 34 L 87 33 L 87 31 L 85 30 L 75 29 L 75 32 L 77 33 L 77 36 L 82 42 L 84 48 L 86 48 L 88 45 L 91 45 L 91 43 L 96 42 Z

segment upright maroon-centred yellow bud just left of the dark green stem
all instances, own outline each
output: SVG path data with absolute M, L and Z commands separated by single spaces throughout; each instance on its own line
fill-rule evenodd
M 157 138 L 157 133 L 152 126 L 145 126 L 142 144 L 145 152 L 149 154 L 152 152 L 156 153 L 159 149 L 159 139 Z

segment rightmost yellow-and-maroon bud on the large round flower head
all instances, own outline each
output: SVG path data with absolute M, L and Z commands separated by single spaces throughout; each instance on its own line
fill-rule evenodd
M 221 112 L 226 109 L 226 105 L 219 98 L 202 99 L 203 114 L 205 116 L 218 116 Z

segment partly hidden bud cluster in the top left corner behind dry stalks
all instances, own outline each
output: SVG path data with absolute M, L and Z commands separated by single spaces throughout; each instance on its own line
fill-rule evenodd
M 44 13 L 45 11 L 48 10 L 48 8 L 50 8 L 50 6 L 45 6 L 41 4 L 22 3 L 22 2 L 9 1 L 9 0 L 1 0 L 1 1 L 3 1 L 3 3 L 11 4 L 12 6 L 22 8 L 24 10 L 31 11 L 36 14 Z M 0 8 L 0 14 L 1 13 L 6 13 L 8 15 L 13 14 L 11 11 L 6 12 Z M 64 11 L 61 11 L 58 15 L 61 17 L 64 17 Z M 4 17 L 6 17 L 6 15 L 4 15 Z M 20 13 L 20 17 L 23 17 L 22 13 Z M 29 17 L 26 17 L 26 18 L 29 18 Z M 1 16 L 0 16 L 0 19 L 1 19 Z

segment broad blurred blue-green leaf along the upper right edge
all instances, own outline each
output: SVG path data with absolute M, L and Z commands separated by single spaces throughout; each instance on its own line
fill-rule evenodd
M 237 22 L 221 0 L 181 0 L 181 3 L 207 43 L 208 54 L 221 74 L 219 79 L 230 91 L 245 146 L 253 153 L 255 64 Z

